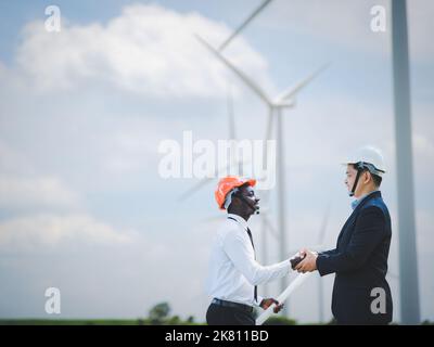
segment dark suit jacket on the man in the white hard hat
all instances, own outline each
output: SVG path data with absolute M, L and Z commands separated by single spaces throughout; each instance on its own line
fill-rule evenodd
M 339 324 L 392 321 L 392 295 L 385 279 L 391 237 L 391 216 L 378 191 L 354 209 L 342 228 L 336 248 L 318 255 L 319 273 L 335 273 L 332 312 Z M 385 313 L 384 306 L 375 300 L 381 297 L 385 299 Z M 372 305 L 376 307 L 373 311 Z

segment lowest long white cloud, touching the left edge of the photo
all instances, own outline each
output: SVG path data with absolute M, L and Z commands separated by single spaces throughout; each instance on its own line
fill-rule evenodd
M 0 223 L 3 252 L 43 252 L 63 246 L 126 244 L 135 232 L 118 231 L 84 214 L 56 216 L 39 214 L 17 217 Z

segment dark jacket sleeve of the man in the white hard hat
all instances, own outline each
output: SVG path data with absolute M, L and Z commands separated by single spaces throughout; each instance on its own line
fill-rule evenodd
M 348 246 L 340 252 L 320 254 L 317 268 L 321 275 L 353 271 L 367 261 L 384 237 L 384 215 L 378 207 L 362 209 Z

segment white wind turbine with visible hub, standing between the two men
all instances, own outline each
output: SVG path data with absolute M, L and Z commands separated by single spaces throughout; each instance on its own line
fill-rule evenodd
M 284 153 L 283 153 L 283 137 L 282 137 L 282 110 L 294 106 L 294 98 L 296 94 L 306 87 L 317 75 L 319 75 L 329 65 L 322 66 L 320 69 L 308 76 L 306 79 L 302 80 L 294 88 L 290 88 L 279 93 L 275 99 L 271 99 L 267 93 L 255 83 L 250 77 L 247 77 L 242 70 L 235 67 L 229 60 L 227 60 L 218 50 L 213 48 L 203 38 L 196 35 L 197 40 L 204 44 L 218 60 L 220 60 L 229 69 L 231 69 L 254 93 L 263 100 L 269 108 L 268 124 L 266 130 L 266 140 L 271 138 L 271 131 L 273 126 L 273 118 L 276 117 L 276 141 L 277 141 L 277 157 L 280 157 L 277 164 L 277 184 L 278 191 L 278 210 L 279 210 L 279 231 L 280 231 L 280 257 L 284 259 L 288 257 L 286 249 L 286 205 L 285 205 L 285 179 L 283 175 Z M 265 151 L 267 152 L 267 151 Z M 283 292 L 286 287 L 286 280 L 281 280 L 281 291 Z

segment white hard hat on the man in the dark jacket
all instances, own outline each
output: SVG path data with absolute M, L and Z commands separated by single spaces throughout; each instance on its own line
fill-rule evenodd
M 357 165 L 359 168 L 366 168 L 372 175 L 380 177 L 386 172 L 381 151 L 370 145 L 358 149 L 343 163 L 343 165 L 348 164 Z

